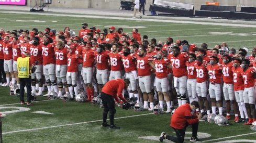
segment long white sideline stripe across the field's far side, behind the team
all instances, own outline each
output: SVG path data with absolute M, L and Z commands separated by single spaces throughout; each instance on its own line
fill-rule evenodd
M 142 18 L 133 19 L 127 17 L 109 17 L 109 16 L 92 16 L 92 15 L 70 15 L 70 14 L 46 14 L 46 13 L 31 13 L 31 12 L 18 12 L 18 11 L 1 11 L 2 13 L 8 14 L 30 14 L 30 15 L 48 15 L 48 16 L 68 16 L 68 17 L 83 17 L 83 18 L 102 18 L 102 19 L 116 19 L 116 20 L 132 20 L 132 21 L 149 21 L 152 22 L 154 19 Z M 1 13 L 0 12 L 0 13 Z M 251 24 L 234 24 L 234 23 L 220 23 L 220 22 L 199 22 L 199 21 L 184 21 L 184 20 L 164 20 L 158 19 L 158 22 L 172 22 L 172 23 L 192 23 L 192 24 L 205 24 L 205 25 L 221 25 L 221 26 L 231 26 L 231 27 L 251 27 L 256 28 L 256 25 Z M 208 28 L 210 29 L 210 28 Z

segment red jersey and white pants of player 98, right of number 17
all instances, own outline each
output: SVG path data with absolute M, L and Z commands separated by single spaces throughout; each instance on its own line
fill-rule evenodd
M 206 97 L 207 94 L 207 62 L 203 61 L 200 66 L 195 64 L 196 68 L 196 93 L 198 97 Z

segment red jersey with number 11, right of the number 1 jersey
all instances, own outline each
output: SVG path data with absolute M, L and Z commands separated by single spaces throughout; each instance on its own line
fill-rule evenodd
M 109 59 L 109 50 L 102 51 L 98 53 L 95 51 L 95 58 L 96 58 L 96 68 L 97 70 L 106 70 L 108 69 L 108 59 Z

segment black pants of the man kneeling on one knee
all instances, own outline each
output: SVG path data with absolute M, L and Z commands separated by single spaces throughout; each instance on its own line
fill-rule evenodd
M 186 123 L 185 127 L 182 128 L 182 129 L 174 129 L 175 133 L 176 133 L 176 136 L 169 136 L 167 135 L 166 136 L 166 139 L 168 140 L 171 140 L 171 141 L 174 141 L 174 142 L 177 142 L 177 143 L 182 143 L 184 142 L 184 138 L 185 138 L 185 132 L 186 132 L 186 127 L 188 126 L 189 124 Z M 197 136 L 197 131 L 198 131 L 198 125 L 199 123 L 195 123 L 195 124 L 192 124 L 192 137 L 196 137 Z

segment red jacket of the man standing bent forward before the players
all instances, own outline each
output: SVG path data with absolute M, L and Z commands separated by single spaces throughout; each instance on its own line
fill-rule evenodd
M 108 81 L 102 88 L 102 92 L 110 96 L 113 96 L 116 99 L 116 101 L 119 103 L 118 97 L 121 100 L 126 101 L 124 96 L 122 95 L 124 88 L 125 88 L 125 81 L 122 79 L 116 79 L 116 80 Z

